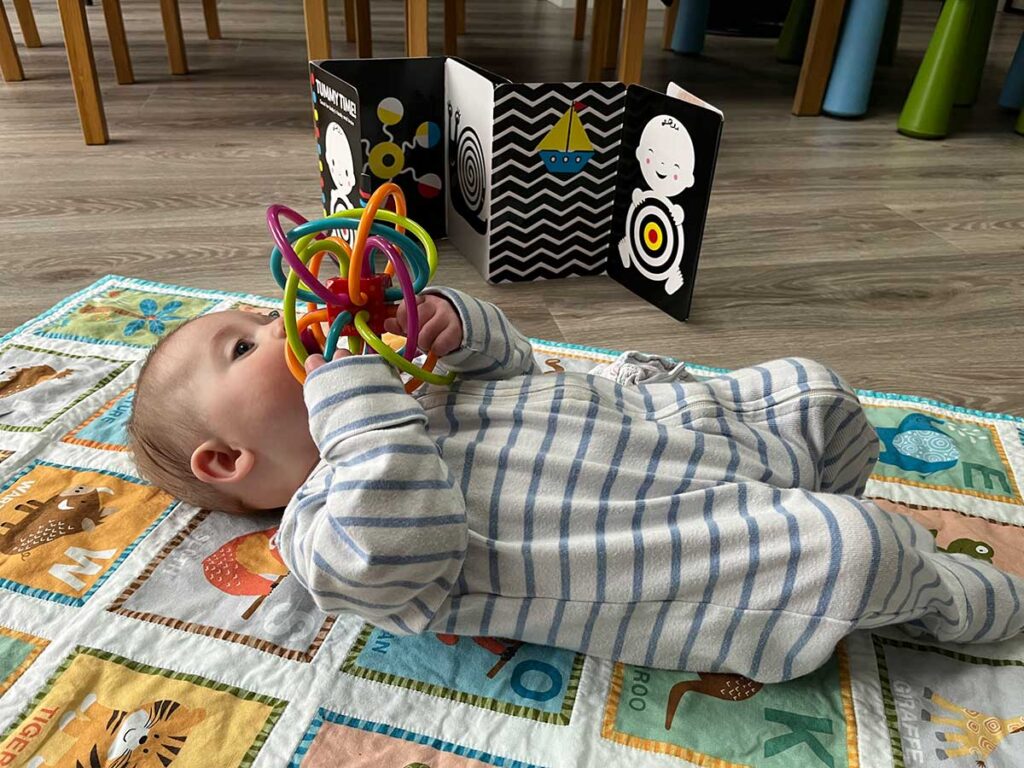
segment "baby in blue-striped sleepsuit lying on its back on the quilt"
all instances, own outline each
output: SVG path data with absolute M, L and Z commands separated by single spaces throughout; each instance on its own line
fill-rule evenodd
M 139 471 L 204 507 L 284 507 L 276 546 L 316 604 L 399 635 L 773 682 L 856 629 L 1024 628 L 1024 582 L 857 498 L 878 438 L 827 368 L 541 376 L 496 306 L 418 301 L 421 346 L 459 378 L 413 395 L 376 355 L 310 356 L 300 386 L 280 317 L 182 326 L 139 377 Z M 387 330 L 404 324 L 401 307 Z

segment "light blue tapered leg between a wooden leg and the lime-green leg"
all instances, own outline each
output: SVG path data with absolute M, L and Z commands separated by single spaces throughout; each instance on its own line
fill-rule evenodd
M 867 112 L 889 0 L 850 0 L 821 112 L 856 118 Z

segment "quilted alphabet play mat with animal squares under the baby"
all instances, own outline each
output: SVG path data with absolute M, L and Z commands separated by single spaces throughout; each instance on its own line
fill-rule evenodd
M 0 767 L 1024 765 L 1024 638 L 862 633 L 762 686 L 318 611 L 272 516 L 178 503 L 125 446 L 158 338 L 273 306 L 108 276 L 0 339 Z M 545 371 L 616 355 L 535 343 Z M 1024 575 L 1024 420 L 861 397 L 883 443 L 868 496 Z

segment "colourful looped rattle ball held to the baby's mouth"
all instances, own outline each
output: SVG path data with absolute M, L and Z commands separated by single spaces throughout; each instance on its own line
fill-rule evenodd
M 385 210 L 390 199 L 394 212 Z M 297 224 L 287 233 L 282 217 Z M 413 362 L 417 355 L 420 316 L 416 295 L 437 269 L 437 248 L 427 231 L 406 218 L 406 197 L 394 183 L 380 186 L 362 209 L 339 211 L 316 221 L 307 221 L 291 208 L 275 205 L 266 212 L 273 238 L 270 272 L 285 291 L 282 314 L 288 344 L 285 357 L 289 370 L 304 382 L 306 357 L 321 353 L 332 359 L 341 337 L 347 338 L 350 352 L 373 350 L 413 379 L 406 390 L 414 391 L 424 381 L 449 384 L 455 375 L 433 373 L 437 362 L 433 352 L 421 368 Z M 393 225 L 393 226 L 391 226 Z M 351 246 L 345 240 L 329 237 L 337 229 L 350 229 Z M 409 230 L 416 240 L 411 239 Z M 374 256 L 387 258 L 383 272 L 374 270 Z M 339 274 L 324 285 L 319 281 L 321 262 L 330 255 L 338 264 Z M 290 267 L 285 274 L 282 261 Z M 392 285 L 392 279 L 397 286 Z M 296 302 L 306 302 L 306 313 L 296 319 Z M 402 349 L 395 351 L 381 339 L 384 321 L 397 313 L 397 302 L 406 300 L 407 336 Z M 326 329 L 326 330 L 325 330 Z

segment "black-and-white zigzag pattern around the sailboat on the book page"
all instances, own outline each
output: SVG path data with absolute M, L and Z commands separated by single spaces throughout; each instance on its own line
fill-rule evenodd
M 594 145 L 583 171 L 548 171 L 538 142 L 573 102 Z M 490 184 L 493 283 L 605 271 L 626 88 L 621 83 L 514 84 L 495 92 Z

